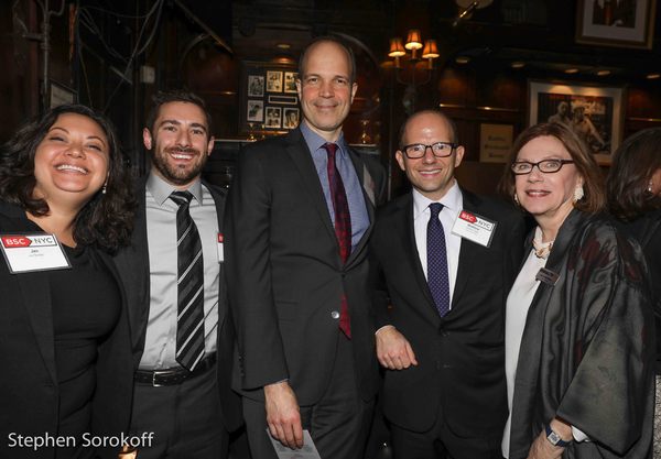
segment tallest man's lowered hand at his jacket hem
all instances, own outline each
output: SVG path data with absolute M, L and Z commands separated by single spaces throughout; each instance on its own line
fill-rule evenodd
M 303 426 L 296 395 L 286 381 L 264 385 L 271 436 L 292 449 L 303 448 Z

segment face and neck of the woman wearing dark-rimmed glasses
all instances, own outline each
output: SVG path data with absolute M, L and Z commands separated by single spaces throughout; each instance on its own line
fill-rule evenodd
M 532 139 L 517 155 L 517 161 L 529 163 L 543 160 L 572 160 L 572 155 L 553 135 Z M 519 204 L 538 221 L 544 240 L 555 239 L 562 222 L 574 207 L 574 189 L 582 185 L 583 178 L 574 164 L 564 164 L 554 173 L 543 173 L 533 167 L 530 174 L 514 176 Z

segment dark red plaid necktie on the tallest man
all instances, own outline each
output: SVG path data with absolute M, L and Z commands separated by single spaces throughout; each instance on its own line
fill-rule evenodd
M 351 216 L 349 214 L 349 204 L 347 194 L 342 182 L 342 176 L 335 162 L 337 144 L 325 143 L 323 145 L 328 153 L 328 163 L 326 166 L 328 173 L 328 186 L 330 188 L 330 198 L 333 199 L 333 209 L 335 211 L 335 236 L 339 244 L 339 256 L 342 262 L 346 263 L 351 253 Z M 351 325 L 349 320 L 349 305 L 346 295 L 342 295 L 342 305 L 339 309 L 339 329 L 351 338 Z

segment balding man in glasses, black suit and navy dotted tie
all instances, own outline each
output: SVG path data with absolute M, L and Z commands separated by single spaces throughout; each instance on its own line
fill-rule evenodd
M 415 113 L 401 132 L 395 159 L 413 189 L 382 209 L 370 243 L 394 457 L 501 458 L 503 313 L 522 219 L 457 185 L 464 147 L 446 116 Z

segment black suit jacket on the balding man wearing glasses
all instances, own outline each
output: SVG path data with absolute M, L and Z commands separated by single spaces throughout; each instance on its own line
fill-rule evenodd
M 507 418 L 505 304 L 521 260 L 523 222 L 502 203 L 462 194 L 465 210 L 498 226 L 490 248 L 462 239 L 452 309 L 444 318 L 418 255 L 412 194 L 377 219 L 371 255 L 386 281 L 375 298 L 378 324 L 397 327 L 419 362 L 386 371 L 383 412 L 410 430 L 427 430 L 442 413 L 460 437 L 499 438 Z

